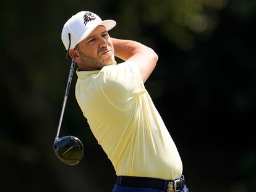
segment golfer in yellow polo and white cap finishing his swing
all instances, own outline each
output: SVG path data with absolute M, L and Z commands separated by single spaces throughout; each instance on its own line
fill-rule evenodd
M 82 11 L 62 30 L 79 67 L 77 102 L 116 170 L 113 191 L 188 191 L 177 148 L 143 85 L 158 56 L 143 44 L 110 38 L 115 25 Z M 124 62 L 117 65 L 114 56 Z

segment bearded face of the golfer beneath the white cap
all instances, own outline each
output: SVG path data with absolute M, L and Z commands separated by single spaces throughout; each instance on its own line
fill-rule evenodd
M 81 70 L 100 70 L 106 65 L 116 64 L 113 43 L 102 25 L 96 27 L 75 49 L 79 51 L 77 65 Z

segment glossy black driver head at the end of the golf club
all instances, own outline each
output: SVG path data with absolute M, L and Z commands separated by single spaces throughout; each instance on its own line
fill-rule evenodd
M 56 156 L 65 164 L 76 165 L 83 159 L 83 144 L 75 136 L 56 138 L 53 149 Z

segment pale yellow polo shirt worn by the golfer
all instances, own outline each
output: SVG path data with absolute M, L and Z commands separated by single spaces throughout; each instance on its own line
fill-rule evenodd
M 179 152 L 137 65 L 123 62 L 77 75 L 77 102 L 117 176 L 181 177 Z

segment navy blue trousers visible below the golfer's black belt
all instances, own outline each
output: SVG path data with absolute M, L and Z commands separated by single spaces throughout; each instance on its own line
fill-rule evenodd
M 112 190 L 112 192 L 121 192 L 121 191 L 124 191 L 124 192 L 166 192 L 166 191 L 163 191 L 163 190 L 155 190 L 155 189 L 152 189 L 152 188 L 137 188 L 137 187 L 130 187 L 130 186 L 119 186 L 119 185 L 114 185 L 114 188 Z M 183 190 L 182 191 L 179 191 L 179 192 L 189 192 L 189 189 L 186 188 L 186 185 L 184 186 Z

